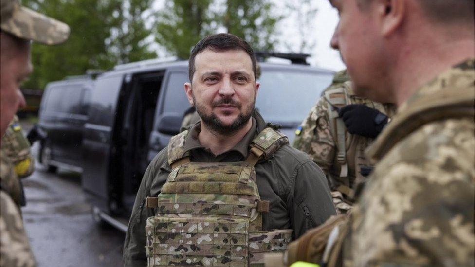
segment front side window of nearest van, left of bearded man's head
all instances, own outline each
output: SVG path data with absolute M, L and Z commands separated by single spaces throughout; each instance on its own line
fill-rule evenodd
M 171 72 L 166 85 L 163 113 L 183 115 L 186 108 L 190 107 L 185 95 L 184 83 L 188 82 L 186 72 Z

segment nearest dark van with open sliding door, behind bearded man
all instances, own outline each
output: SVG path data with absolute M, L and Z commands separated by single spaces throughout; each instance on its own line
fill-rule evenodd
M 333 72 L 302 64 L 259 63 L 256 107 L 290 138 Z M 188 62 L 146 60 L 97 77 L 84 125 L 82 185 L 94 218 L 126 231 L 149 162 L 179 132 L 189 108 Z

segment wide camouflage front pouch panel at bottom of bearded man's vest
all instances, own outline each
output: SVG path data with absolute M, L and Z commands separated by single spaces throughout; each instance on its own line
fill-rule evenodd
M 150 217 L 148 266 L 248 266 L 249 220 Z

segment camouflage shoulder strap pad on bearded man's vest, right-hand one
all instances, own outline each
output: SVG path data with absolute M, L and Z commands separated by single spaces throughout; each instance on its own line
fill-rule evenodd
M 267 127 L 249 145 L 250 152 L 246 162 L 254 166 L 259 160 L 269 158 L 280 147 L 288 143 L 289 139 L 287 136 L 272 127 Z

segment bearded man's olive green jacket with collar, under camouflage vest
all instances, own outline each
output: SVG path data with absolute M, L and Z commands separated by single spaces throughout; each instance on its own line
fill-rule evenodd
M 244 138 L 220 155 L 200 144 L 201 125 L 195 124 L 185 141 L 190 160 L 244 161 L 250 142 L 266 127 L 259 115 L 252 120 L 252 128 Z M 295 237 L 299 237 L 336 214 L 325 175 L 305 153 L 284 145 L 269 160 L 257 162 L 255 169 L 259 195 L 270 202 L 269 212 L 263 214 L 263 230 L 293 229 Z M 145 207 L 146 197 L 160 194 L 170 172 L 165 148 L 148 166 L 137 193 L 124 245 L 125 266 L 146 265 L 146 219 L 155 215 L 153 209 Z

